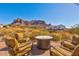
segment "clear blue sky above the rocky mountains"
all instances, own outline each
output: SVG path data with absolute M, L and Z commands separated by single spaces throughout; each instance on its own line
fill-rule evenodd
M 9 24 L 16 18 L 44 20 L 52 25 L 63 24 L 69 27 L 79 24 L 79 6 L 66 3 L 0 4 L 0 24 Z

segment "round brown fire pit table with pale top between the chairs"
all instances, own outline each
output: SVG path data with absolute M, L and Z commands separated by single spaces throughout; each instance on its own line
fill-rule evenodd
M 40 49 L 49 49 L 50 48 L 50 40 L 53 37 L 51 36 L 36 36 L 35 39 L 37 39 L 37 47 Z

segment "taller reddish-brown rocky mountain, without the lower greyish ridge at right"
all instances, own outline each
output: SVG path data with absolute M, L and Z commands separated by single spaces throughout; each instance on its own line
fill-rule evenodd
M 45 21 L 42 20 L 32 20 L 32 21 L 26 21 L 22 20 L 20 18 L 15 19 L 11 24 L 15 25 L 47 25 Z

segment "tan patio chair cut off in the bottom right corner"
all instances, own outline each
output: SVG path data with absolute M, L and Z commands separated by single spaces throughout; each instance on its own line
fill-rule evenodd
M 79 45 L 76 46 L 72 52 L 60 47 L 51 47 L 50 55 L 51 56 L 79 56 Z

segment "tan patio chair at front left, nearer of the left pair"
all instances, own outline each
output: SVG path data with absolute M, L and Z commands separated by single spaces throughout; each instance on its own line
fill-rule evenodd
M 30 40 L 25 43 L 19 43 L 15 38 L 5 39 L 6 45 L 10 48 L 9 53 L 12 56 L 29 55 L 32 49 L 32 42 Z

